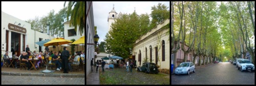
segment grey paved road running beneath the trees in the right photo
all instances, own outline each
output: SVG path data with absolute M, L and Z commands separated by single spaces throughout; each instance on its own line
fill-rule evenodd
M 255 72 L 241 72 L 230 62 L 196 68 L 196 73 L 172 75 L 171 84 L 255 84 Z

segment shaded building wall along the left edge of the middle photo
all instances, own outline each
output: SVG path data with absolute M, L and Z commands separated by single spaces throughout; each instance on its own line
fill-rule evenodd
M 91 7 L 89 7 L 91 4 Z M 90 9 L 89 9 L 90 8 Z M 89 13 L 88 13 L 89 11 Z M 88 16 L 86 17 L 86 76 L 91 71 L 91 60 L 94 58 L 94 17 L 93 17 L 93 4 L 92 2 L 86 2 L 86 13 Z M 86 14 L 87 15 L 87 14 Z

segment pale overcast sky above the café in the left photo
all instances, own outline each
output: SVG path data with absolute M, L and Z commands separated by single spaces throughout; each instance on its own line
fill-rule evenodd
M 58 13 L 64 2 L 1 2 L 1 7 L 3 12 L 25 21 L 46 16 L 52 9 Z

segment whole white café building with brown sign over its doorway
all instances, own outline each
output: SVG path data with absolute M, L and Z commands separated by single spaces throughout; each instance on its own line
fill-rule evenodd
M 5 12 L 1 12 L 1 53 L 5 54 L 8 51 L 11 56 L 11 49 L 13 48 L 17 55 L 25 50 L 27 45 L 29 45 L 30 51 L 45 51 L 45 47 L 40 47 L 35 42 L 53 39 L 54 37 L 31 30 L 31 24 L 18 19 L 12 15 Z

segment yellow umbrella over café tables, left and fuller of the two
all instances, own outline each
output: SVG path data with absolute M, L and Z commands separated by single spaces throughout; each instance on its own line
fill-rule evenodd
M 64 45 L 64 44 L 69 44 L 70 40 L 66 40 L 64 38 L 54 38 L 51 41 L 48 41 L 44 46 L 58 46 L 58 45 Z

